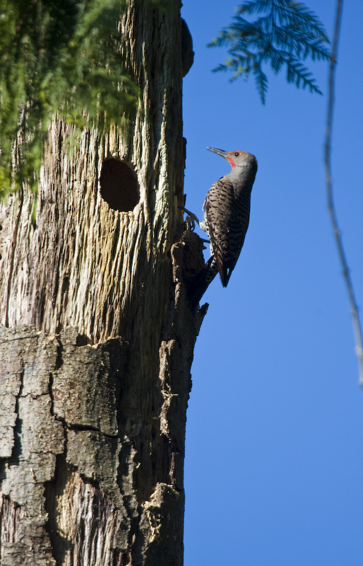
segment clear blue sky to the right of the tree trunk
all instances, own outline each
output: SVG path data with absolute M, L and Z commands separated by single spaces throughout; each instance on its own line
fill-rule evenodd
M 309 0 L 333 35 L 335 1 Z M 207 151 L 258 158 L 250 227 L 226 289 L 215 279 L 192 364 L 185 458 L 185 566 L 361 566 L 363 391 L 325 195 L 324 96 L 269 73 L 212 74 L 207 49 L 235 0 L 185 0 L 195 64 L 184 79 L 186 206 L 198 216 L 229 172 Z M 363 3 L 345 3 L 336 76 L 333 188 L 363 306 Z M 207 257 L 207 254 L 206 254 Z

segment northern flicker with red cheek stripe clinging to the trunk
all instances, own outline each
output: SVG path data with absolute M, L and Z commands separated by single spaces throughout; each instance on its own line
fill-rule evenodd
M 190 283 L 190 306 L 193 310 L 218 272 L 223 287 L 229 282 L 248 229 L 250 192 L 257 172 L 255 156 L 246 151 L 228 152 L 215 147 L 207 149 L 224 157 L 231 165 L 231 172 L 217 180 L 207 192 L 202 222 L 185 209 L 207 232 L 211 252 L 202 271 Z

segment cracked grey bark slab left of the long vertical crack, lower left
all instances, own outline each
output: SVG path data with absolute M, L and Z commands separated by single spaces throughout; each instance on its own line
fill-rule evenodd
M 49 391 L 57 343 L 29 328 L 4 327 L 0 343 L 0 387 L 11 392 L 8 410 L 16 412 L 10 428 L 6 410 L 0 412 L 0 431 L 4 429 L 6 436 L 6 459 L 1 464 L 1 565 L 55 566 L 45 531 L 43 493 L 44 483 L 54 473 L 56 455 L 64 450 L 62 423 L 52 415 Z

